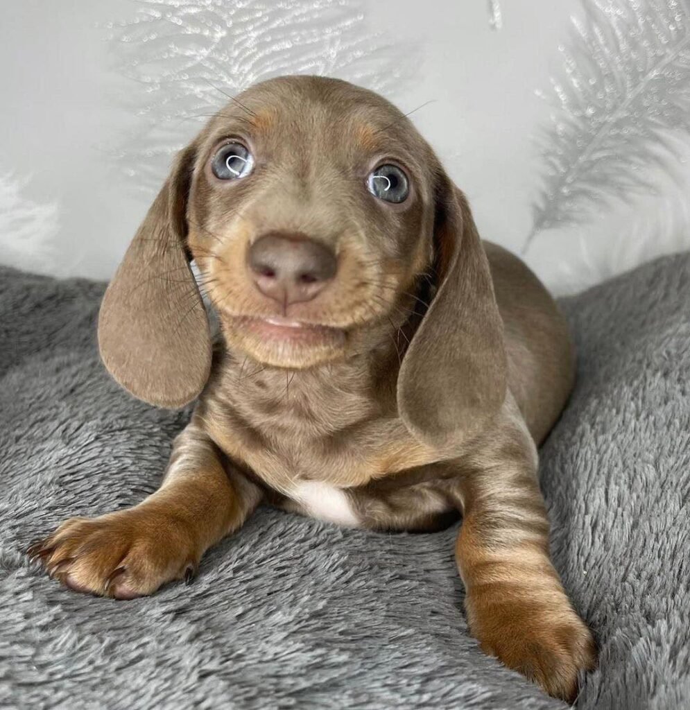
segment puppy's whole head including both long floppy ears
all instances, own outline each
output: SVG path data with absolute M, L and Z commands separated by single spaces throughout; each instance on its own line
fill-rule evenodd
M 503 401 L 500 317 L 469 208 L 410 121 L 373 92 L 270 80 L 180 153 L 99 323 L 106 366 L 157 405 L 187 403 L 209 375 L 191 258 L 230 348 L 285 368 L 376 347 L 432 280 L 400 370 L 401 415 L 442 440 Z

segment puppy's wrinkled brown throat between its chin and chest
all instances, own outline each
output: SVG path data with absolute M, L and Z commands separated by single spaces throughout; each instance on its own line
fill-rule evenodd
M 366 422 L 397 417 L 398 373 L 424 315 L 417 304 L 429 299 L 425 285 L 422 297 L 410 295 L 384 322 L 360 334 L 357 354 L 327 364 L 269 366 L 223 338 L 206 398 L 247 430 L 275 439 L 323 442 Z

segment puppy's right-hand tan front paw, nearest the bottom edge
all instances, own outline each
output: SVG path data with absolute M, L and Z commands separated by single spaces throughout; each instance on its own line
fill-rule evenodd
M 578 675 L 596 666 L 590 630 L 563 593 L 549 601 L 510 594 L 470 593 L 470 629 L 488 655 L 536 682 L 545 692 L 572 703 Z

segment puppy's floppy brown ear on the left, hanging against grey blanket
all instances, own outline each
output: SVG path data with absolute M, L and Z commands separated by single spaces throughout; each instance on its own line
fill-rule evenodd
M 185 249 L 194 156 L 194 146 L 177 156 L 106 290 L 98 324 L 111 375 L 168 408 L 194 399 L 211 367 L 208 319 Z

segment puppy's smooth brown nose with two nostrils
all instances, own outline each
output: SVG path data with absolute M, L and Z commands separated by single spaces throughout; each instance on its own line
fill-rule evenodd
M 265 234 L 251 245 L 248 265 L 261 293 L 283 305 L 312 300 L 337 270 L 335 254 L 327 246 L 280 232 Z

